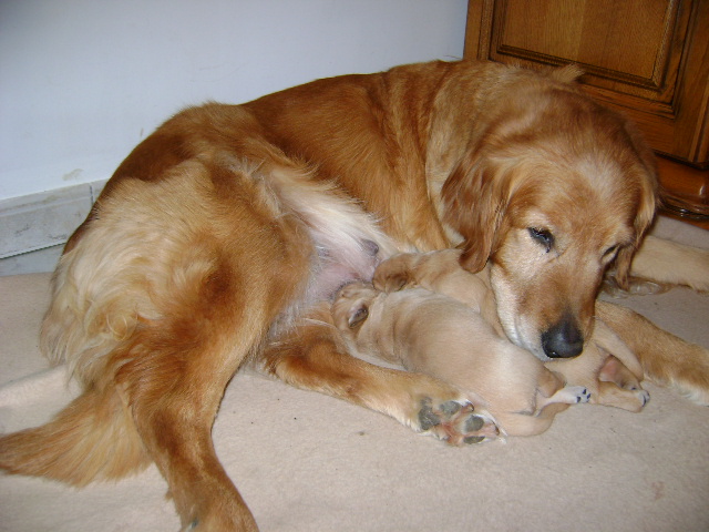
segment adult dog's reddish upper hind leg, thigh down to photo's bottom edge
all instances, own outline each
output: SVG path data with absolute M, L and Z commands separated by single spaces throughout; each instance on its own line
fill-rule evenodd
M 183 526 L 251 531 L 256 523 L 215 453 L 212 426 L 229 379 L 301 297 L 312 248 L 300 222 L 274 219 L 268 202 L 245 194 L 246 180 L 225 177 L 206 194 L 218 204 L 203 213 L 220 218 L 179 246 L 169 279 L 153 282 L 158 311 L 126 344 L 115 380 Z

